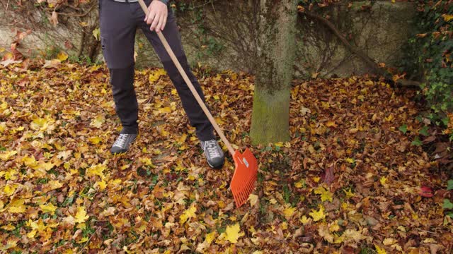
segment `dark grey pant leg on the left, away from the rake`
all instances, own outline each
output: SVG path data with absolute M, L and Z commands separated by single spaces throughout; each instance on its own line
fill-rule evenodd
M 110 71 L 115 111 L 122 133 L 137 133 L 138 103 L 134 91 L 134 38 L 137 25 L 130 4 L 99 0 L 101 44 Z

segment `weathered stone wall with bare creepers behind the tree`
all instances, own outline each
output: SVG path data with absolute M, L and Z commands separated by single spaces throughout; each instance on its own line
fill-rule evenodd
M 366 52 L 378 63 L 394 66 L 403 57 L 403 47 L 412 35 L 412 20 L 415 6 L 407 2 L 391 1 L 354 2 L 352 6 L 338 5 L 323 8 L 324 15 L 336 25 L 350 44 Z M 363 8 L 362 6 L 371 6 Z M 194 14 L 176 13 L 183 37 L 183 47 L 190 63 L 208 65 L 219 70 L 248 71 L 254 69 L 254 40 L 256 30 L 253 26 L 253 8 L 247 1 L 216 1 L 214 5 L 202 7 L 203 30 L 194 23 Z M 198 12 L 200 13 L 200 11 Z M 16 30 L 32 29 L 25 37 L 19 50 L 28 56 L 46 54 L 53 49 L 64 49 L 70 55 L 79 54 L 82 34 L 84 40 L 93 40 L 93 35 L 79 29 L 70 19 L 62 19 L 54 28 L 42 13 L 30 13 L 29 18 L 40 20 L 32 28 L 27 22 L 18 22 L 21 17 L 11 12 L 0 12 L 0 48 L 9 48 Z M 43 21 L 44 20 L 44 21 Z M 86 18 L 86 23 L 96 28 L 97 11 Z M 333 74 L 348 76 L 372 72 L 366 64 L 351 54 L 343 44 L 316 20 L 299 14 L 297 34 L 297 61 L 294 74 L 297 78 L 307 78 L 319 73 L 321 77 Z M 149 43 L 142 33 L 137 32 L 137 66 L 160 66 Z M 68 47 L 70 45 L 70 47 Z M 83 48 L 82 48 L 83 49 Z M 82 50 L 86 54 L 86 49 Z M 2 53 L 0 53 L 2 54 Z M 102 59 L 98 55 L 98 59 Z

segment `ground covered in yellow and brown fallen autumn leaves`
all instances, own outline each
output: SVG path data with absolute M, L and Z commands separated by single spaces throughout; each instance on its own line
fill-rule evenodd
M 253 77 L 196 74 L 229 140 L 260 162 L 256 191 L 239 209 L 228 190 L 234 164 L 207 167 L 159 69 L 137 71 L 139 139 L 114 157 L 120 124 L 105 67 L 1 68 L 0 250 L 452 250 L 442 210 L 452 193 L 415 138 L 423 121 L 411 92 L 361 77 L 294 83 L 291 142 L 253 147 Z

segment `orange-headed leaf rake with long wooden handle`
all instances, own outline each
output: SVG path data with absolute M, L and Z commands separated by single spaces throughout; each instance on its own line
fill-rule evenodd
M 146 4 L 144 4 L 144 1 L 139 0 L 139 4 L 140 6 L 142 6 L 144 13 L 149 16 L 148 7 Z M 253 153 L 248 150 L 248 148 L 246 148 L 243 153 L 233 149 L 233 146 L 226 139 L 222 129 L 217 125 L 214 117 L 212 117 L 212 114 L 207 109 L 200 95 L 198 95 L 197 90 L 195 90 L 195 87 L 193 87 L 192 82 L 190 82 L 188 75 L 185 73 L 183 67 L 179 63 L 162 32 L 157 32 L 157 35 L 159 36 L 162 44 L 164 44 L 166 52 L 175 64 L 176 68 L 178 68 L 180 75 L 188 85 L 193 96 L 195 97 L 195 99 L 197 99 L 198 104 L 200 104 L 200 107 L 212 123 L 212 126 L 214 126 L 217 134 L 219 134 L 220 138 L 222 138 L 222 141 L 224 142 L 226 147 L 228 147 L 228 151 L 231 154 L 231 157 L 233 157 L 234 159 L 235 169 L 233 178 L 231 179 L 230 188 L 231 192 L 233 193 L 234 202 L 236 202 L 236 207 L 240 207 L 248 200 L 248 196 L 253 192 L 253 188 L 255 188 L 255 183 L 258 176 L 258 162 L 256 161 L 255 156 L 253 156 Z

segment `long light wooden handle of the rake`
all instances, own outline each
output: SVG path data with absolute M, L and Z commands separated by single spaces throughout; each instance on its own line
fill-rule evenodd
M 143 9 L 144 13 L 147 16 L 149 16 L 148 7 L 147 7 L 146 4 L 144 4 L 144 1 L 143 0 L 139 0 L 139 4 L 140 4 L 140 6 L 142 6 L 142 9 Z M 212 123 L 212 126 L 214 126 L 215 131 L 217 131 L 217 133 L 219 134 L 220 138 L 222 138 L 222 141 L 224 142 L 226 147 L 228 147 L 228 150 L 229 150 L 229 153 L 231 153 L 231 156 L 234 156 L 234 149 L 231 146 L 231 143 L 229 143 L 229 141 L 226 139 L 226 137 L 224 135 L 224 132 L 217 125 L 216 121 L 214 120 L 214 117 L 212 117 L 212 114 L 207 109 L 207 107 L 206 107 L 205 103 L 203 102 L 203 100 L 201 99 L 200 95 L 198 95 L 197 90 L 195 90 L 195 87 L 193 87 L 193 84 L 190 81 L 188 75 L 185 73 L 185 71 L 183 69 L 183 66 L 181 66 L 181 64 L 179 63 L 178 59 L 175 56 L 175 53 L 173 53 L 173 49 L 171 49 L 170 45 L 168 44 L 168 42 L 165 39 L 165 37 L 162 34 L 162 32 L 157 32 L 157 35 L 159 36 L 159 39 L 161 40 L 162 44 L 164 44 L 166 52 L 168 53 L 168 55 L 170 55 L 170 58 L 173 61 L 173 63 L 175 64 L 176 68 L 178 68 L 179 73 L 183 76 L 183 79 L 184 79 L 185 83 L 187 83 L 187 85 L 188 85 L 188 87 L 190 89 L 190 92 L 192 92 L 192 94 L 195 97 L 195 99 L 197 99 L 198 104 L 200 104 L 200 107 L 205 112 L 205 114 L 207 116 L 207 119 L 210 120 L 210 122 Z

